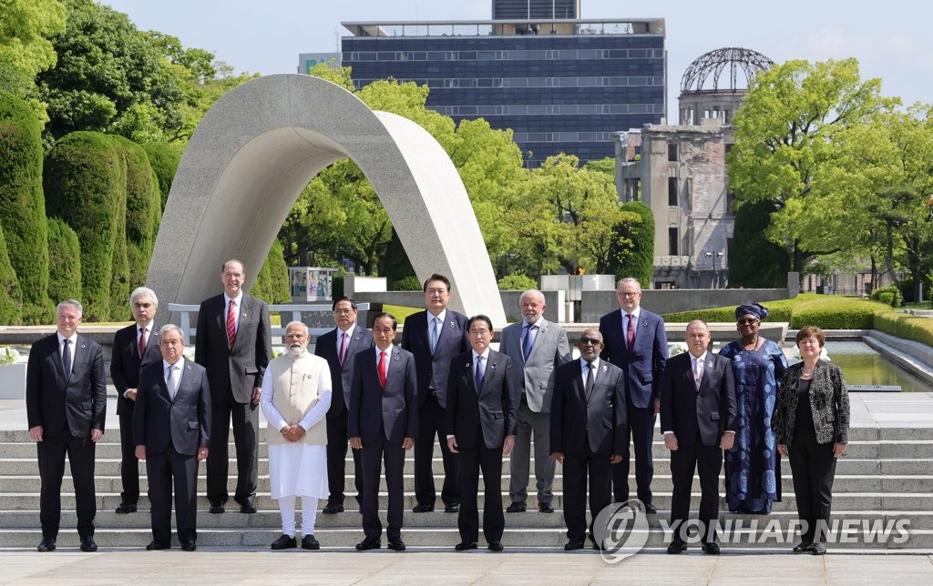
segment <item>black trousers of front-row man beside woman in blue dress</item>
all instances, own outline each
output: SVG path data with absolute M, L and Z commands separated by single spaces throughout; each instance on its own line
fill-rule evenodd
M 691 445 L 678 441 L 677 449 L 671 452 L 671 477 L 674 495 L 671 498 L 671 530 L 675 541 L 686 541 L 680 526 L 687 521 L 690 512 L 690 486 L 693 472 L 700 477 L 699 518 L 703 543 L 716 540 L 716 525 L 719 521 L 719 474 L 722 472 L 722 448 L 703 445 L 699 434 Z

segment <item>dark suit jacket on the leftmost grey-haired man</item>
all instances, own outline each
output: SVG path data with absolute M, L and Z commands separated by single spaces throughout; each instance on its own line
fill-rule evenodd
M 44 435 L 70 432 L 90 438 L 91 429 L 104 431 L 107 387 L 104 352 L 97 342 L 77 334 L 71 376 L 66 377 L 58 334 L 36 342 L 26 365 L 26 418 L 29 428 L 42 426 Z

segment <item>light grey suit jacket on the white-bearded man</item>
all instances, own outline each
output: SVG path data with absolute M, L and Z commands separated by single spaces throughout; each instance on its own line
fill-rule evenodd
M 554 369 L 570 361 L 567 334 L 564 328 L 556 323 L 541 320 L 535 345 L 531 347 L 531 353 L 525 361 L 522 352 L 523 326 L 524 320 L 506 326 L 502 330 L 499 349 L 508 354 L 512 361 L 514 388 L 519 390 L 519 398 L 521 399 L 523 391 L 532 411 L 550 413 L 551 397 L 554 394 Z

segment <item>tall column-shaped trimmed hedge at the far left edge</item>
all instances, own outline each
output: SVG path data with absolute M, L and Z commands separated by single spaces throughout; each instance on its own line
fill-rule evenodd
M 42 125 L 33 109 L 0 90 L 0 225 L 26 324 L 49 323 L 49 244 L 42 195 Z M 3 320 L 5 323 L 12 323 Z

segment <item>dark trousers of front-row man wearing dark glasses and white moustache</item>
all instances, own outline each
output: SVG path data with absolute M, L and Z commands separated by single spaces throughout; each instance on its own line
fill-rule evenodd
M 611 502 L 612 469 L 609 457 L 595 454 L 586 441 L 580 454 L 564 453 L 564 524 L 567 539 L 583 541 L 586 538 L 587 480 L 590 484 L 590 532 L 592 521 Z

